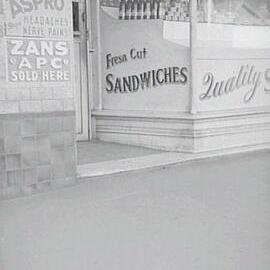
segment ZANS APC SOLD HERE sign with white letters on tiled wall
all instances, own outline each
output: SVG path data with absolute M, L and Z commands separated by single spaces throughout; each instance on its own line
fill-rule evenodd
M 68 41 L 8 39 L 7 50 L 10 82 L 71 79 Z

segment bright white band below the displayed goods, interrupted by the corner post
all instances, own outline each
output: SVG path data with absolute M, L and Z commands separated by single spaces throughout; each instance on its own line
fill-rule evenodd
M 166 40 L 189 46 L 189 23 L 164 21 L 163 36 Z M 198 23 L 199 47 L 221 48 L 270 48 L 270 26 Z

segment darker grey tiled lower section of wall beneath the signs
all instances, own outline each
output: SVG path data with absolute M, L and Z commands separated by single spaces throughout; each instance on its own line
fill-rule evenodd
M 76 181 L 74 112 L 0 115 L 0 199 Z

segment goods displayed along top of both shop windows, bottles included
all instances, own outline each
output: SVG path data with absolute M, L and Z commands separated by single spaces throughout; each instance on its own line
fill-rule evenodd
M 270 25 L 268 0 L 197 0 L 198 22 Z M 190 0 L 101 0 L 119 20 L 189 21 Z

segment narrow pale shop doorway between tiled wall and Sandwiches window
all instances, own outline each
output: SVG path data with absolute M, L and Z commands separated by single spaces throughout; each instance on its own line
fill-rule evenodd
M 74 40 L 74 93 L 77 141 L 91 139 L 89 96 L 92 87 L 91 51 L 88 49 L 86 0 L 72 0 Z

